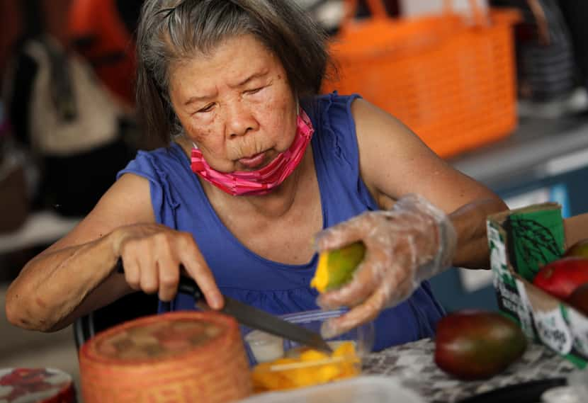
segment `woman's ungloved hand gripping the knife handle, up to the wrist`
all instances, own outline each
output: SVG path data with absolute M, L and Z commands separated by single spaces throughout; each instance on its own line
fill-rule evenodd
M 158 293 L 160 300 L 169 301 L 177 293 L 182 264 L 198 283 L 208 305 L 222 307 L 213 273 L 188 232 L 158 224 L 135 224 L 115 229 L 113 236 L 115 254 L 123 259 L 125 280 L 132 289 Z

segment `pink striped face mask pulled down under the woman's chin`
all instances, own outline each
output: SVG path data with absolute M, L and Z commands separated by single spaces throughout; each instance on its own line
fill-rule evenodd
M 192 149 L 192 171 L 230 195 L 264 195 L 288 178 L 304 157 L 310 137 L 315 131 L 310 118 L 300 108 L 294 141 L 290 148 L 278 154 L 268 165 L 257 171 L 234 171 L 225 174 L 210 168 L 202 152 Z

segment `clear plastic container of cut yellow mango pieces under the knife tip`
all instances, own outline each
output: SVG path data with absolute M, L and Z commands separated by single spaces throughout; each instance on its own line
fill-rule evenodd
M 344 312 L 346 311 L 316 310 L 288 314 L 282 318 L 318 333 L 325 320 L 339 317 Z M 306 346 L 300 346 L 295 341 L 281 339 L 261 331 L 245 331 L 244 334 L 245 348 L 253 367 L 252 376 L 257 392 L 306 387 L 359 375 L 363 357 L 370 353 L 373 347 L 373 338 L 373 323 L 363 324 L 345 334 L 328 339 L 327 343 L 335 351 L 328 356 L 318 351 L 309 352 Z M 341 346 L 341 343 L 345 342 L 351 343 Z

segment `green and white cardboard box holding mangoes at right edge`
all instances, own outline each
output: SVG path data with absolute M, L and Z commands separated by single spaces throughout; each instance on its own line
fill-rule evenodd
M 487 234 L 499 309 L 519 322 L 530 339 L 586 367 L 588 317 L 532 284 L 541 266 L 565 251 L 560 205 L 543 203 L 490 215 Z

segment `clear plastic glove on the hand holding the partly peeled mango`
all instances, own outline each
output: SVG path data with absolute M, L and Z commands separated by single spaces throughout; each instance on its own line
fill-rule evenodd
M 369 322 L 381 310 L 407 299 L 422 280 L 451 265 L 457 235 L 445 212 L 419 195 L 406 195 L 391 210 L 364 212 L 317 234 L 318 251 L 356 241 L 366 256 L 354 278 L 338 290 L 320 295 L 324 309 L 352 309 L 323 324 L 322 336 L 334 337 Z

